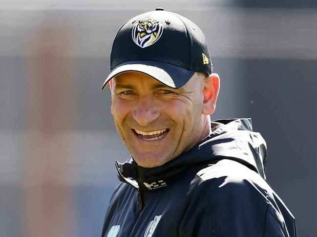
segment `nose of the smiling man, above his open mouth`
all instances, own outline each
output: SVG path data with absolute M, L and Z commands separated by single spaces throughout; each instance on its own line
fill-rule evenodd
M 151 96 L 140 96 L 138 104 L 132 112 L 132 116 L 143 127 L 147 127 L 152 121 L 161 115 L 154 98 Z

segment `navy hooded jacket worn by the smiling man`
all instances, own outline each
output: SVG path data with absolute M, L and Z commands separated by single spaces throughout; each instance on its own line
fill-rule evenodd
M 121 183 L 102 237 L 296 237 L 295 218 L 265 182 L 266 144 L 251 119 L 223 124 L 170 162 L 116 162 Z

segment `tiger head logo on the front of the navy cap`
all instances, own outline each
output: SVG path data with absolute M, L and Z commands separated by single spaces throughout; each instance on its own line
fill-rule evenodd
M 139 20 L 132 28 L 132 39 L 141 48 L 154 44 L 163 32 L 163 25 L 154 19 Z

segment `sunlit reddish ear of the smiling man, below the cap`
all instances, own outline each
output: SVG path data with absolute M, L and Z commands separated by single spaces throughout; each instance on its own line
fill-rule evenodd
M 202 112 L 205 115 L 212 114 L 216 109 L 216 102 L 220 87 L 220 78 L 217 73 L 206 76 L 203 84 L 204 103 Z

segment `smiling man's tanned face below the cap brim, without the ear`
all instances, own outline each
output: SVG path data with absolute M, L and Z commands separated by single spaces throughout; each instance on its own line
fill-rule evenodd
M 180 89 L 143 73 L 123 73 L 113 79 L 111 113 L 137 164 L 165 164 L 206 136 L 203 77 L 195 73 Z

